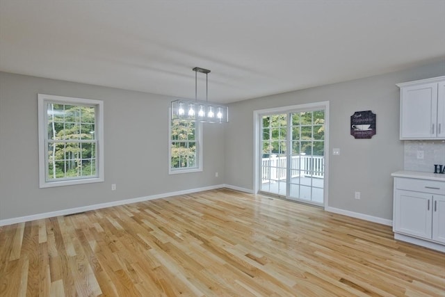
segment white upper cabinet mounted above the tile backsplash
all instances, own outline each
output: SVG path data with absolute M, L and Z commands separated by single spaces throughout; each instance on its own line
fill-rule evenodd
M 445 139 L 445 77 L 398 83 L 401 139 Z

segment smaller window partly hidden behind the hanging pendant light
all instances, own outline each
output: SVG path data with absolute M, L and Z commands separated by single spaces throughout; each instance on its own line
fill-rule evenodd
M 169 120 L 169 173 L 202 171 L 202 123 L 191 120 L 171 120 L 171 117 Z

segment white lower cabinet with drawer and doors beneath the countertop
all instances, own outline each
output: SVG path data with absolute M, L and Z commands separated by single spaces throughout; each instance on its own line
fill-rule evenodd
M 396 239 L 445 251 L 445 182 L 394 177 L 393 231 Z

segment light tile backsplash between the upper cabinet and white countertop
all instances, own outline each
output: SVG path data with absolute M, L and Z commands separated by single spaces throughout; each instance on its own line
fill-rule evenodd
M 417 152 L 423 151 L 423 159 Z M 434 172 L 434 164 L 445 166 L 445 141 L 405 141 L 404 170 Z

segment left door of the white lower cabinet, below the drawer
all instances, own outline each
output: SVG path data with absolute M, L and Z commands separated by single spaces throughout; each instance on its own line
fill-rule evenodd
M 394 231 L 431 239 L 432 195 L 396 190 Z

